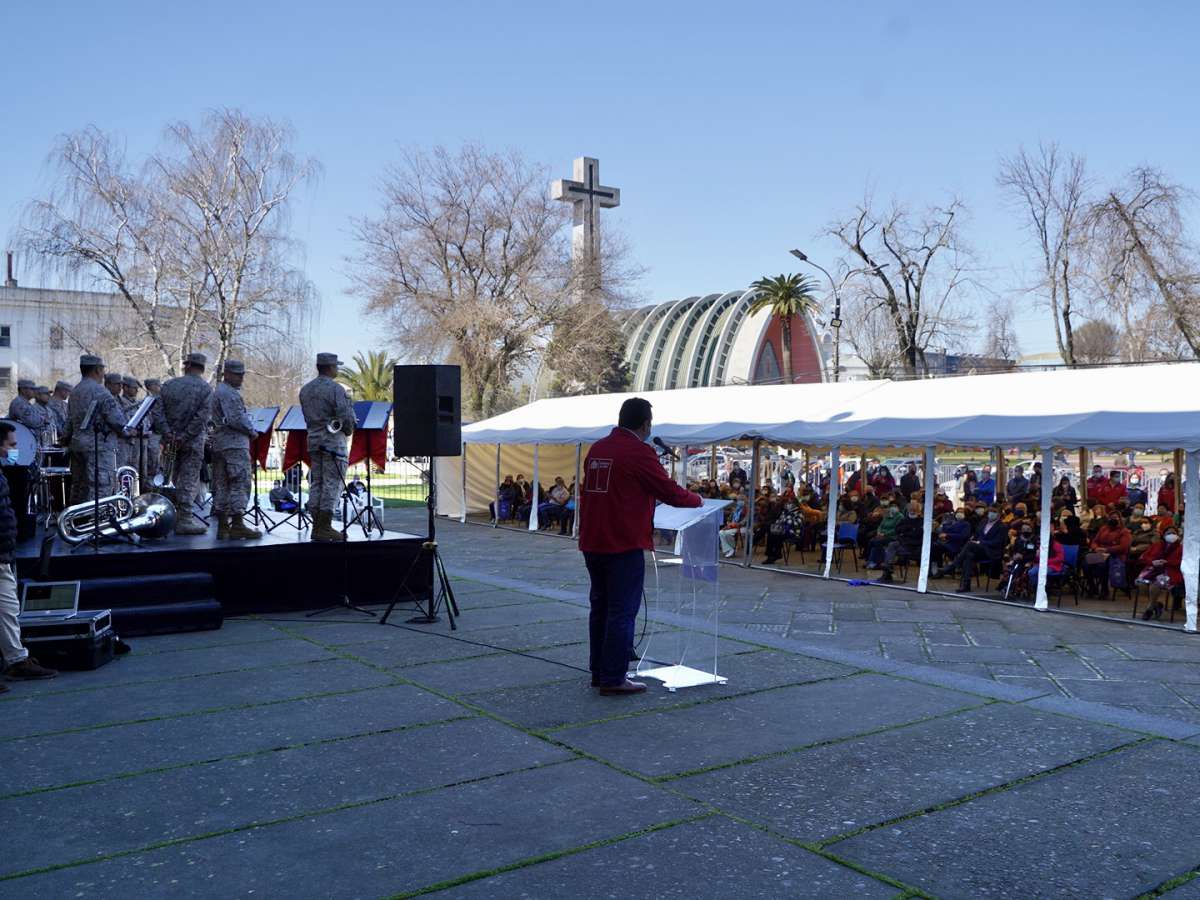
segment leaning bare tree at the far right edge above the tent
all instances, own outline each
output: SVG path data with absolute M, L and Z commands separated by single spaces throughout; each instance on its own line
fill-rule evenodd
M 1188 240 L 1182 208 L 1189 193 L 1153 168 L 1139 167 L 1088 214 L 1102 282 L 1133 305 L 1151 293 L 1164 318 L 1200 359 L 1200 262 Z

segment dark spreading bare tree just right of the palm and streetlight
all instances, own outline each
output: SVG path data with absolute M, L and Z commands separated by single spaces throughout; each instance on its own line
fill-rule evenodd
M 910 378 L 928 372 L 925 352 L 958 330 L 955 301 L 968 282 L 970 254 L 958 234 L 959 200 L 922 212 L 870 198 L 828 228 L 851 254 L 848 292 L 884 311 L 895 359 Z

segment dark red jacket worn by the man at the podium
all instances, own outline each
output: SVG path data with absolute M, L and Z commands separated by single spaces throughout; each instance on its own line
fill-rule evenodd
M 700 494 L 672 481 L 658 454 L 629 428 L 617 427 L 588 451 L 580 492 L 580 550 L 653 550 L 654 502 L 700 506 Z

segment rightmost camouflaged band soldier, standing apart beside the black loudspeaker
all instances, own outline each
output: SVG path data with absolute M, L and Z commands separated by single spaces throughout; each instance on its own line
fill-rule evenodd
M 343 541 L 346 535 L 334 528 L 334 508 L 342 493 L 346 466 L 349 458 L 347 443 L 354 433 L 354 406 L 334 379 L 337 377 L 337 354 L 317 354 L 317 377 L 300 389 L 300 408 L 308 426 L 308 456 L 311 458 L 308 511 L 312 514 L 312 540 Z M 329 424 L 337 420 L 336 432 Z

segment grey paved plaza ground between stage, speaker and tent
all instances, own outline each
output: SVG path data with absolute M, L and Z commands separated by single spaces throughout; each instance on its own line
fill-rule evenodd
M 0 898 L 1200 896 L 1194 636 L 722 568 L 728 684 L 600 697 L 575 546 L 440 536 L 455 635 L 251 617 L 13 685 Z

